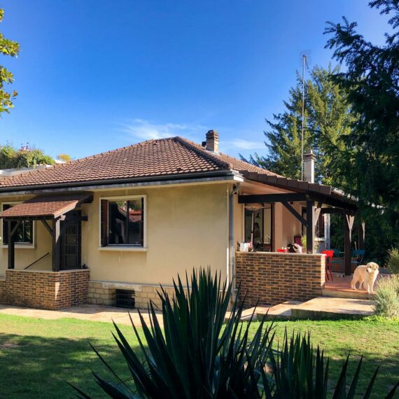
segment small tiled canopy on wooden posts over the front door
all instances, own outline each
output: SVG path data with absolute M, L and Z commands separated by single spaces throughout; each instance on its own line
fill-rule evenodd
M 1 212 L 0 218 L 8 222 L 8 269 L 15 267 L 15 232 L 20 223 L 41 221 L 52 237 L 52 270 L 57 272 L 60 257 L 60 222 L 64 220 L 67 212 L 87 202 L 92 202 L 91 193 L 38 195 Z M 51 221 L 51 225 L 47 221 Z

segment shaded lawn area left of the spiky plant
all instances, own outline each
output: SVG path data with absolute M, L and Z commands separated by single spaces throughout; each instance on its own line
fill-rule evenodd
M 116 344 L 90 342 L 118 374 L 129 377 Z M 108 397 L 91 370 L 109 375 L 87 340 L 0 335 L 0 398 L 73 398 L 75 391 L 66 381 L 93 398 Z

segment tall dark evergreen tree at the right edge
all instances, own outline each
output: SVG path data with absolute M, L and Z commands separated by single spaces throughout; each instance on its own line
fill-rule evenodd
M 345 176 L 346 191 L 365 204 L 380 204 L 399 211 L 399 2 L 373 0 L 370 7 L 389 15 L 393 33 L 385 44 L 366 41 L 356 31 L 356 22 L 328 22 L 332 35 L 326 48 L 346 66 L 333 79 L 348 93 L 351 110 L 358 118 L 343 138 L 344 152 L 335 174 Z M 398 221 L 396 222 L 398 226 Z

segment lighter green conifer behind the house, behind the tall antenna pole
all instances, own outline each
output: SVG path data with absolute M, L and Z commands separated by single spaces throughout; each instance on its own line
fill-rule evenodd
M 344 144 L 339 137 L 349 134 L 353 116 L 346 104 L 346 93 L 330 79 L 339 69 L 323 69 L 320 66 L 310 71 L 305 82 L 304 148 L 316 153 L 316 180 L 339 186 L 330 172 L 335 153 L 342 151 Z M 302 126 L 302 77 L 297 74 L 297 83 L 291 87 L 286 111 L 266 119 L 270 130 L 264 132 L 267 156 L 255 153 L 250 162 L 293 179 L 301 177 L 301 126 Z

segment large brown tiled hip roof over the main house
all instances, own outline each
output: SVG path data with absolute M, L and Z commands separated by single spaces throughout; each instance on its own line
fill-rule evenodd
M 123 181 L 168 175 L 247 170 L 277 176 L 236 158 L 206 151 L 199 144 L 172 137 L 148 140 L 132 146 L 38 169 L 0 181 L 0 190 L 27 186 L 53 186 L 68 183 Z

